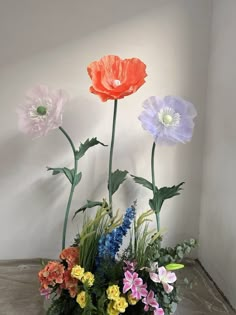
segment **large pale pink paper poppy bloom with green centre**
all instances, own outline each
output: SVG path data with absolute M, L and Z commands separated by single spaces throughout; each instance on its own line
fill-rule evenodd
M 49 90 L 38 85 L 26 94 L 26 102 L 19 106 L 19 129 L 33 137 L 44 136 L 62 124 L 62 111 L 68 97 L 63 90 Z

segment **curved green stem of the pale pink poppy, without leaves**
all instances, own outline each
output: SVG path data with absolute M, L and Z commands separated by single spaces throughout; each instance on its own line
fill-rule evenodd
M 68 223 L 68 217 L 69 217 L 69 212 L 70 212 L 70 206 L 71 206 L 71 201 L 72 201 L 74 190 L 75 190 L 75 178 L 76 178 L 75 175 L 77 173 L 78 161 L 76 159 L 76 149 L 75 149 L 74 143 L 72 142 L 70 136 L 65 131 L 65 129 L 63 129 L 62 127 L 59 127 L 59 129 L 61 130 L 61 132 L 64 134 L 64 136 L 69 141 L 71 148 L 72 148 L 72 151 L 73 151 L 73 155 L 74 155 L 74 176 L 73 176 L 73 181 L 71 184 L 70 195 L 69 195 L 69 199 L 68 199 L 67 206 L 66 206 L 65 219 L 64 219 L 64 224 L 63 224 L 62 249 L 64 249 L 65 244 L 66 244 L 66 230 L 67 230 L 67 223 Z

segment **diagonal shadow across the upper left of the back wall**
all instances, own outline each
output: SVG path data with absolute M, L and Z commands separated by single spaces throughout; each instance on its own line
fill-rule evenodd
M 100 0 L 99 5 L 93 0 L 1 2 L 0 38 L 8 40 L 0 52 L 0 66 L 78 40 L 99 29 L 143 14 L 145 10 L 160 6 L 162 2 L 164 1 L 132 0 L 127 1 L 125 6 L 110 0 Z

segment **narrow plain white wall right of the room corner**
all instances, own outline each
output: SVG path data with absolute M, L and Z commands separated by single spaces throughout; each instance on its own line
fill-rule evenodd
M 236 307 L 236 2 L 213 1 L 200 260 Z

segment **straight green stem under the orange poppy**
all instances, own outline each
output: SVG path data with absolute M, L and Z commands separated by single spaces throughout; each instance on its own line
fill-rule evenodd
M 109 215 L 112 218 L 112 157 L 113 157 L 113 149 L 114 149 L 114 141 L 115 141 L 115 131 L 116 131 L 116 115 L 117 115 L 117 103 L 118 100 L 114 101 L 114 112 L 113 112 L 113 122 L 112 122 L 112 135 L 111 135 L 111 146 L 110 146 L 110 156 L 109 156 L 109 175 L 108 175 L 108 184 L 109 184 L 109 206 L 110 212 Z

